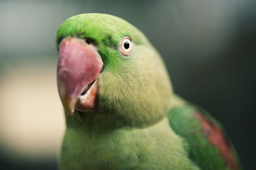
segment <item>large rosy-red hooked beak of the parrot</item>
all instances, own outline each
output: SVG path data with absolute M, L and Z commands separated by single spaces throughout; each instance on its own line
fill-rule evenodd
M 97 77 L 103 62 L 96 48 L 79 38 L 65 38 L 59 45 L 57 81 L 59 97 L 70 114 L 95 109 Z

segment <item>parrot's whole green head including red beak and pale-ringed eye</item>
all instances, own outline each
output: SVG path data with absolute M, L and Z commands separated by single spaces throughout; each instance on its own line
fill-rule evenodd
M 144 126 L 162 119 L 172 86 L 144 34 L 106 14 L 80 14 L 57 32 L 57 82 L 66 116 L 83 122 Z

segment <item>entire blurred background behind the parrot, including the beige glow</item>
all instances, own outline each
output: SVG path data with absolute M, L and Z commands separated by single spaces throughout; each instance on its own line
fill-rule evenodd
M 174 90 L 226 128 L 255 167 L 255 0 L 1 0 L 0 169 L 56 170 L 65 128 L 56 30 L 81 13 L 122 17 L 163 56 Z

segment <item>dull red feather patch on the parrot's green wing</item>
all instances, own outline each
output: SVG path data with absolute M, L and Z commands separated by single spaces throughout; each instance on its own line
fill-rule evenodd
M 196 119 L 200 121 L 203 128 L 204 137 L 208 138 L 211 144 L 218 148 L 221 157 L 225 160 L 226 165 L 231 170 L 238 170 L 230 143 L 221 129 L 207 119 L 204 115 L 195 114 Z

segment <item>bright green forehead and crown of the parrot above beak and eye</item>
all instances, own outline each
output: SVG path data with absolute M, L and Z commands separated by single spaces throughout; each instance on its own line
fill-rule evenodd
M 107 14 L 80 14 L 65 20 L 57 32 L 57 44 L 68 36 L 91 38 L 96 43 L 118 46 L 120 39 L 129 36 L 134 43 L 147 42 L 144 35 L 127 21 Z

